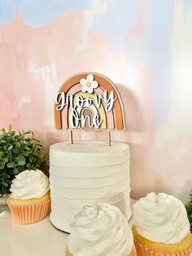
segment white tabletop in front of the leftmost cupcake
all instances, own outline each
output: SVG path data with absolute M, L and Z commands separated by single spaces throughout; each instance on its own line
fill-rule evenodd
M 9 210 L 0 214 L 0 256 L 64 256 L 67 239 L 68 234 L 56 229 L 49 217 L 20 225 L 12 222 Z

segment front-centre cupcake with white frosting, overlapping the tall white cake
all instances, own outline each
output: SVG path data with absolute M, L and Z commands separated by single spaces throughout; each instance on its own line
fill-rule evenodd
M 84 206 L 70 227 L 66 256 L 133 255 L 133 233 L 115 206 Z

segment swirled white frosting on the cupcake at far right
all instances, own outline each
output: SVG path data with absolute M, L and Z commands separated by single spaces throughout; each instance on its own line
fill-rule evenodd
M 190 232 L 185 206 L 174 196 L 151 192 L 133 208 L 133 225 L 148 240 L 177 244 Z

